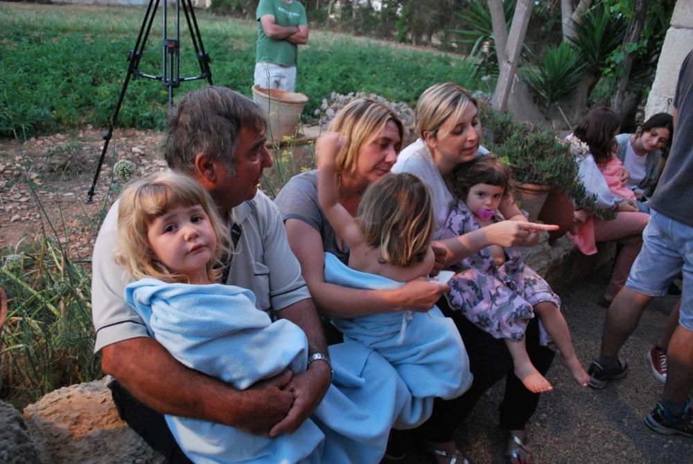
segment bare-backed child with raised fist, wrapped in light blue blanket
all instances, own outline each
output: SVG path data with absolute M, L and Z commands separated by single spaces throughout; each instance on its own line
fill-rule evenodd
M 426 185 L 412 174 L 386 173 L 362 194 L 355 218 L 339 200 L 335 158 L 343 144 L 342 136 L 328 133 L 316 145 L 319 204 L 338 239 L 349 247 L 349 266 L 325 253 L 325 281 L 360 289 L 396 289 L 410 280 L 428 278 L 435 255 Z M 454 398 L 471 386 L 462 338 L 453 320 L 437 307 L 425 313 L 403 310 L 332 322 L 345 340 L 374 348 L 392 363 L 415 404 L 429 415 L 435 397 Z

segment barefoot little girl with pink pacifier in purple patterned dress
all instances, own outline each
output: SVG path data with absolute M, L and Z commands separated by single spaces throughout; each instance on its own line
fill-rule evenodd
M 498 205 L 509 195 L 510 184 L 510 170 L 495 157 L 484 157 L 454 171 L 451 189 L 459 200 L 450 208 L 443 238 L 502 221 Z M 553 339 L 572 377 L 579 385 L 587 385 L 589 377 L 577 359 L 559 310 L 560 298 L 525 266 L 518 250 L 491 245 L 460 261 L 456 270 L 449 282 L 450 306 L 495 338 L 505 340 L 515 374 L 528 390 L 552 390 L 525 349 L 525 329 L 534 311 L 541 318 L 542 343 Z

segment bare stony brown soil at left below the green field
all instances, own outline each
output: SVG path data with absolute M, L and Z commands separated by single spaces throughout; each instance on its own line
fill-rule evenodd
M 86 204 L 103 146 L 102 133 L 87 126 L 32 137 L 23 144 L 0 139 L 0 248 L 14 249 L 45 230 L 49 237 L 57 232 L 60 241 L 69 243 L 73 257 L 91 256 L 109 188 L 117 191 L 123 184 L 122 180 L 111 184 L 114 161 L 132 161 L 137 166 L 136 175 L 166 165 L 157 157 L 161 132 L 116 130 L 94 202 Z

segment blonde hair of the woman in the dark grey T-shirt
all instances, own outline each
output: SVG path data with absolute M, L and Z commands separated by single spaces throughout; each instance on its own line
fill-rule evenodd
M 335 158 L 335 171 L 341 176 L 356 169 L 358 154 L 383 131 L 387 121 L 396 124 L 400 140 L 404 137 L 404 126 L 397 113 L 370 98 L 358 98 L 335 114 L 328 131 L 347 137 L 340 153 Z

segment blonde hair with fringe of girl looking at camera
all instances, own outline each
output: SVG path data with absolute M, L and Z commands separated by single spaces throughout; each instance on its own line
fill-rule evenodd
M 175 207 L 200 205 L 209 216 L 217 247 L 207 262 L 207 277 L 216 282 L 222 275 L 217 266 L 220 257 L 230 252 L 229 232 L 202 185 L 187 175 L 170 171 L 148 175 L 130 182 L 123 191 L 118 208 L 118 250 L 116 263 L 135 279 L 154 277 L 164 282 L 187 282 L 157 259 L 147 238 L 149 225 Z

